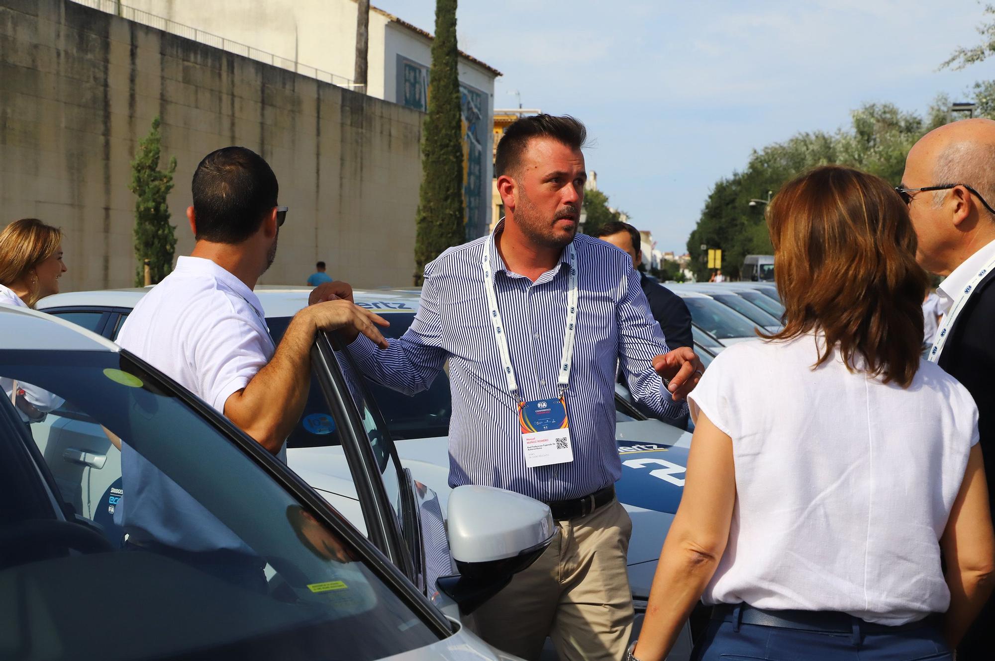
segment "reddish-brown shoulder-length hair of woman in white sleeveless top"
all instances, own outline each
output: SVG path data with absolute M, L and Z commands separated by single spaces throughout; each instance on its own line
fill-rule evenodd
M 908 386 L 919 367 L 928 278 L 895 189 L 858 170 L 819 167 L 780 190 L 767 227 L 785 311 L 783 330 L 765 337 L 824 333 L 813 368 L 838 345 L 847 369 Z

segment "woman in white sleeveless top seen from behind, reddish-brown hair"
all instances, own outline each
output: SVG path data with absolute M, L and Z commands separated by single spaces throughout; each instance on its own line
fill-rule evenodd
M 689 396 L 684 496 L 630 657 L 664 659 L 701 597 L 696 660 L 949 659 L 995 539 L 977 409 L 920 359 L 907 209 L 827 166 L 767 224 L 784 329 L 723 351 Z

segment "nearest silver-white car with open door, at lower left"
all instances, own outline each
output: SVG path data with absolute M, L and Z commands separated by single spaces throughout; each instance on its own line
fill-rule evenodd
M 364 396 L 351 392 L 328 338 L 313 351 L 325 363 L 316 373 L 344 457 L 332 463 L 350 475 L 329 484 L 348 481 L 351 521 L 365 535 L 151 366 L 69 322 L 0 305 L 4 387 L 65 400 L 30 424 L 23 413 L 38 413 L 30 402 L 0 400 L 0 655 L 510 659 L 464 626 L 461 612 L 554 539 L 549 508 L 459 487 L 449 494 L 447 535 L 438 498 L 401 469 L 386 434 L 372 433 Z M 199 531 L 209 525 L 242 548 L 180 551 L 134 528 L 122 544 L 113 513 L 128 492 L 112 437 L 187 496 L 185 509 L 165 516 L 196 519 Z M 451 576 L 432 574 L 442 571 Z

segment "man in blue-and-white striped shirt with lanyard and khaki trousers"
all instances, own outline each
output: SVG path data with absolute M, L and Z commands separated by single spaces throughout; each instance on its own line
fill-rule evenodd
M 624 655 L 632 522 L 613 486 L 622 470 L 616 366 L 663 416 L 686 413 L 684 397 L 700 376 L 690 348 L 668 349 L 632 259 L 576 234 L 585 137 L 568 116 L 509 126 L 497 146 L 505 219 L 494 235 L 426 266 L 421 307 L 389 349 L 361 336 L 350 344 L 366 376 L 408 395 L 428 388 L 448 361 L 450 484 L 549 503 L 561 535 L 476 617 L 485 640 L 526 659 L 538 657 L 547 635 L 561 659 Z M 529 438 L 557 413 L 569 434 L 552 427 L 561 442 L 536 451 Z

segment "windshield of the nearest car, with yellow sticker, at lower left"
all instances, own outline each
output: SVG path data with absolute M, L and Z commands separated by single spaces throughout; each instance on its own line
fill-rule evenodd
M 25 537 L 33 562 L 0 553 L 0 608 L 20 622 L 9 631 L 14 649 L 53 659 L 344 660 L 438 640 L 361 560 L 358 537 L 323 522 L 220 417 L 198 413 L 125 354 L 0 351 L 0 381 L 52 396 L 32 396 L 39 460 L 65 511 L 105 547 L 67 555 Z M 4 420 L 3 451 L 30 443 Z M 7 503 L 23 493 L 0 484 Z M 4 532 L 28 535 L 31 521 L 16 520 L 27 515 L 12 516 Z

